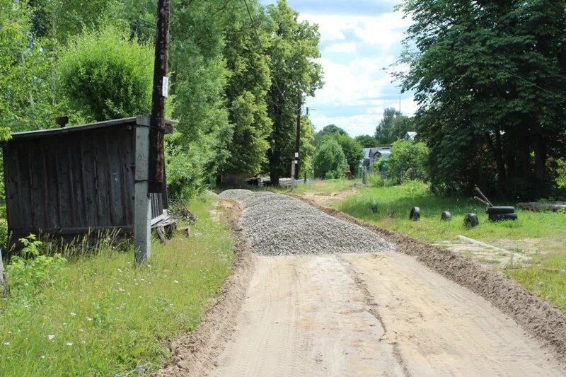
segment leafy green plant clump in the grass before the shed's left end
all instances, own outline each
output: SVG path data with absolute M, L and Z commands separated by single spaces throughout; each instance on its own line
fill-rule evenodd
M 67 260 L 59 254 L 43 255 L 42 242 L 30 234 L 20 238 L 23 245 L 20 257 L 13 255 L 10 264 L 6 266 L 6 279 L 11 294 L 20 299 L 30 299 L 40 289 L 52 286 L 57 280 L 57 273 L 64 267 Z

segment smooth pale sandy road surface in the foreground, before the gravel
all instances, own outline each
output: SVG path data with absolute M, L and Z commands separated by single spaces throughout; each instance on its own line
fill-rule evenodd
M 255 264 L 212 376 L 565 376 L 490 303 L 407 255 Z

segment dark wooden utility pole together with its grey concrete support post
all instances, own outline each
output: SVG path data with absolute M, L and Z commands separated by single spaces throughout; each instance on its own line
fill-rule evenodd
M 170 0 L 157 2 L 154 88 L 151 116 L 141 115 L 136 123 L 134 253 L 141 265 L 151 255 L 150 193 L 163 192 L 163 134 L 165 133 L 165 98 L 168 96 Z

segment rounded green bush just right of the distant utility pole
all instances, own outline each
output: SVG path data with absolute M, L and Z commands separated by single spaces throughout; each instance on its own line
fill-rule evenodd
M 342 147 L 329 138 L 316 150 L 313 159 L 315 178 L 342 178 L 347 170 L 347 161 Z

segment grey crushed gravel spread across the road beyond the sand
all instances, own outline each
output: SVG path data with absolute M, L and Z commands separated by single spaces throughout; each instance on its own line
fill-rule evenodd
M 258 255 L 375 253 L 391 245 L 375 233 L 328 216 L 308 204 L 272 192 L 227 190 L 219 195 L 243 204 L 241 226 Z

